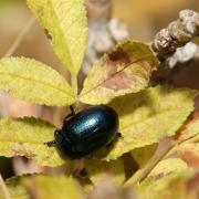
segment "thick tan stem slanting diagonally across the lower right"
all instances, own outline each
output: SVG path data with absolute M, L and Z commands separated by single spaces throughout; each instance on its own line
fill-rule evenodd
M 157 166 L 157 164 L 165 159 L 165 157 L 170 153 L 170 150 L 176 146 L 176 142 L 169 143 L 169 145 L 158 155 L 154 156 L 149 163 L 142 169 L 139 169 L 135 175 L 127 180 L 124 186 L 135 186 L 136 184 L 139 184 L 143 181 L 149 174 L 150 171 Z

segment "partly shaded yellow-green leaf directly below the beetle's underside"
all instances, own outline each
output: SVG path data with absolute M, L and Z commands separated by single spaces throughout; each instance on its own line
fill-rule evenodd
M 95 186 L 104 180 L 107 175 L 112 176 L 117 184 L 123 184 L 125 180 L 125 170 L 122 159 L 116 159 L 108 163 L 96 159 L 86 159 L 85 168 L 91 181 Z

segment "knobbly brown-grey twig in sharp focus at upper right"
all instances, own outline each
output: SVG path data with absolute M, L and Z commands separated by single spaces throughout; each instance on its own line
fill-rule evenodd
M 192 10 L 179 12 L 179 19 L 169 23 L 166 29 L 160 30 L 151 48 L 160 61 L 170 57 L 177 48 L 184 46 L 193 38 L 199 35 L 199 13 Z

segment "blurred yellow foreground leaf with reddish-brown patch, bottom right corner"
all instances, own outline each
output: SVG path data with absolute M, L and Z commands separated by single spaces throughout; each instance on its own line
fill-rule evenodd
M 140 199 L 198 199 L 199 174 L 169 174 L 160 179 L 148 178 L 137 192 Z

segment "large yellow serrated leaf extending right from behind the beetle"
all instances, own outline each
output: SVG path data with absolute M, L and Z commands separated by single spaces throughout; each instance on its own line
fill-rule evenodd
M 119 115 L 119 132 L 113 148 L 103 148 L 97 156 L 116 159 L 135 148 L 172 136 L 193 109 L 197 91 L 156 86 L 116 98 L 109 105 Z

